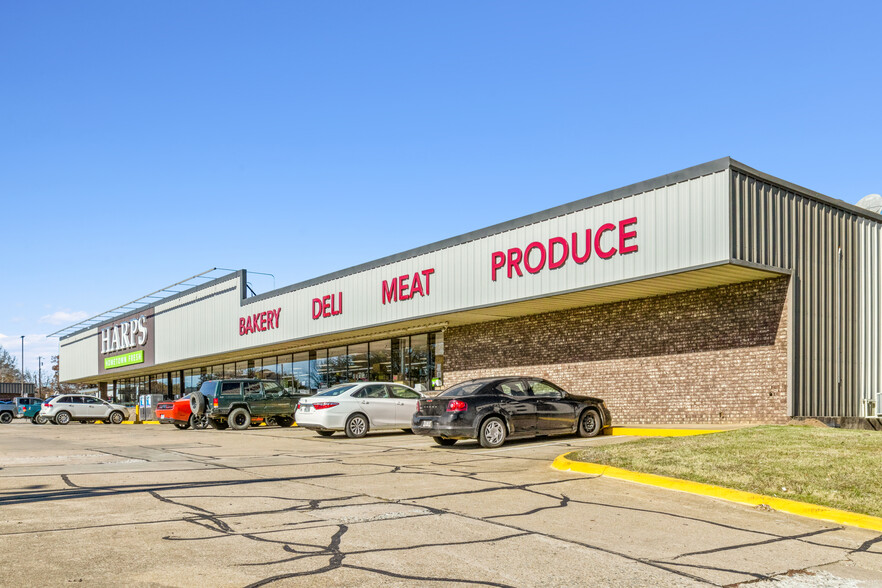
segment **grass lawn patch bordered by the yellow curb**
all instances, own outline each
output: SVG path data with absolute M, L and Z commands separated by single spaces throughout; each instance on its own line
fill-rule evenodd
M 876 431 L 762 426 L 641 439 L 567 457 L 882 516 L 882 433 Z

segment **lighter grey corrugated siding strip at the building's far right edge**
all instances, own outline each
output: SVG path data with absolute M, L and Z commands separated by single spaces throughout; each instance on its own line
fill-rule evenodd
M 861 219 L 858 246 L 858 387 L 882 415 L 882 223 Z

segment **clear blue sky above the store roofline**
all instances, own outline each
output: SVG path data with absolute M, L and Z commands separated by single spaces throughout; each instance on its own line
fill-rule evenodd
M 723 156 L 882 191 L 879 3 L 4 2 L 0 345 Z M 255 277 L 259 291 L 271 282 Z

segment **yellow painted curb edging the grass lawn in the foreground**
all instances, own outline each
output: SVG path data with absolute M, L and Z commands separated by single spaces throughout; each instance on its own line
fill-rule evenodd
M 806 502 L 797 502 L 796 500 L 788 500 L 786 498 L 775 498 L 774 496 L 754 494 L 752 492 L 744 492 L 743 490 L 733 490 L 731 488 L 702 484 L 700 482 L 690 482 L 689 480 L 680 480 L 678 478 L 668 478 L 667 476 L 632 472 L 630 470 L 623 470 L 598 463 L 573 461 L 567 459 L 563 455 L 558 456 L 551 464 L 551 467 L 561 471 L 606 476 L 607 478 L 626 480 L 628 482 L 636 482 L 637 484 L 646 484 L 658 488 L 667 488 L 668 490 L 676 490 L 678 492 L 710 496 L 711 498 L 719 498 L 721 500 L 737 502 L 738 504 L 747 504 L 749 506 L 765 504 L 781 512 L 787 512 L 811 519 L 829 521 L 842 525 L 851 525 L 852 527 L 860 527 L 861 529 L 870 529 L 872 531 L 882 531 L 882 518 L 848 512 L 846 510 L 828 508 L 826 506 L 818 506 L 816 504 L 808 504 Z

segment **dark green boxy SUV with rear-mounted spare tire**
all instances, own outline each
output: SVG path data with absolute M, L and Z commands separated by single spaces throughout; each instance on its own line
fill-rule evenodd
M 230 427 L 241 431 L 256 418 L 290 427 L 297 403 L 307 396 L 290 392 L 273 380 L 211 380 L 190 395 L 190 410 L 197 416 L 208 417 L 208 424 L 215 429 Z

